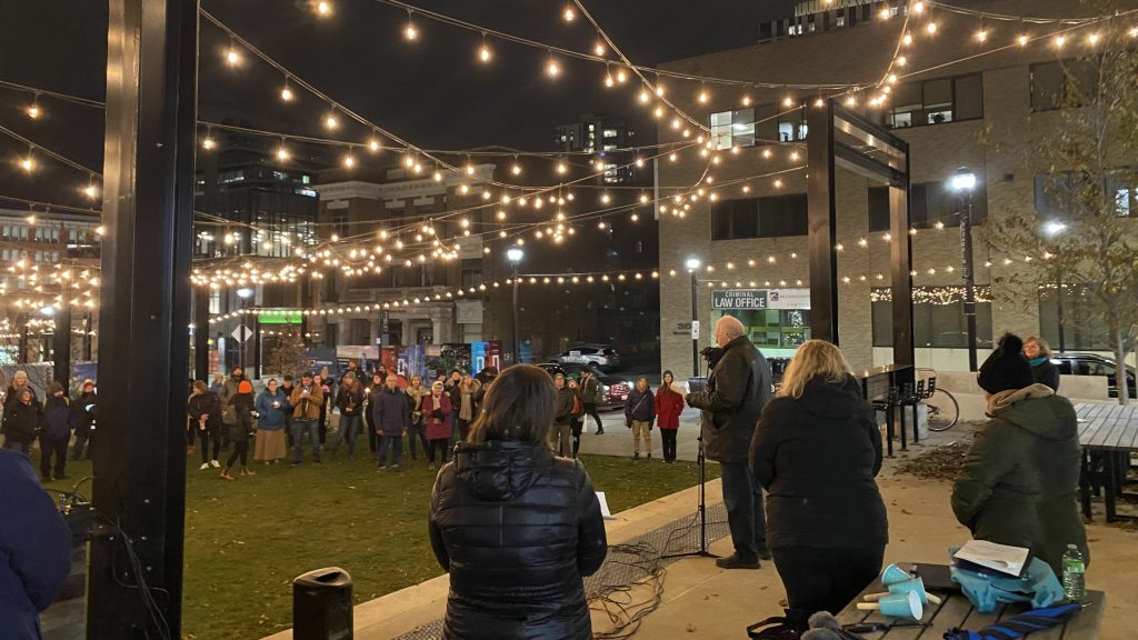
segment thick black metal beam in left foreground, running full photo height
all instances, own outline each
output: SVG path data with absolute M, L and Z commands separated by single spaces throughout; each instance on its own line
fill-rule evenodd
M 122 531 L 99 525 L 91 541 L 88 638 L 158 638 L 156 618 L 180 638 L 198 3 L 108 10 L 99 353 L 113 367 L 99 379 L 93 499 Z

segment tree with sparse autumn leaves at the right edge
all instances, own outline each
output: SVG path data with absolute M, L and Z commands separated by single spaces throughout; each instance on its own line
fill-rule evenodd
M 1123 25 L 1108 23 L 1091 52 L 1061 68 L 1052 105 L 1059 109 L 1057 125 L 1032 145 L 1029 161 L 1042 178 L 1044 202 L 1037 214 L 1001 212 L 987 240 L 1008 256 L 1047 265 L 1009 280 L 1041 288 L 1058 279 L 1080 294 L 1082 311 L 1107 327 L 1125 404 L 1127 345 L 1138 339 L 1138 172 L 1131 164 L 1138 157 L 1138 51 Z

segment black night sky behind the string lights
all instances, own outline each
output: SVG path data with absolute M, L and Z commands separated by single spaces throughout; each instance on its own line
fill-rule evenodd
M 420 0 L 417 6 L 543 43 L 588 51 L 595 33 L 584 18 L 561 19 L 560 0 Z M 760 22 L 790 11 L 790 0 L 607 0 L 587 3 L 635 63 L 658 63 L 754 42 Z M 490 39 L 494 60 L 476 59 L 480 35 L 417 16 L 419 42 L 404 41 L 406 13 L 373 0 L 333 0 L 320 18 L 306 0 L 205 0 L 203 7 L 297 75 L 372 122 L 427 148 L 501 145 L 551 150 L 553 126 L 584 113 L 636 108 L 632 87 L 605 90 L 596 63 L 562 60 L 563 76 L 544 75 L 546 54 Z M 102 100 L 106 2 L 0 2 L 0 80 Z M 283 77 L 251 55 L 229 68 L 229 40 L 203 22 L 199 120 L 237 118 L 253 126 L 322 136 L 327 105 L 307 95 L 279 98 Z M 102 113 L 44 98 L 43 117 L 24 114 L 31 97 L 0 88 L 0 124 L 101 171 Z M 343 120 L 343 118 L 341 118 Z M 336 137 L 363 140 L 345 128 Z M 82 204 L 88 177 L 41 158 L 24 175 L 26 146 L 0 136 L 0 195 Z M 0 203 L 0 206 L 8 206 Z

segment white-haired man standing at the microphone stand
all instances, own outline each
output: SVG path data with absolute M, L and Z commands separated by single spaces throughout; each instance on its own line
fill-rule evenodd
M 704 454 L 719 462 L 723 501 L 735 552 L 716 560 L 725 569 L 757 569 L 770 559 L 761 489 L 748 468 L 748 451 L 759 413 L 770 401 L 770 367 L 747 337 L 737 318 L 716 322 L 715 342 L 723 350 L 704 391 L 688 393 L 688 407 L 702 410 L 700 437 Z

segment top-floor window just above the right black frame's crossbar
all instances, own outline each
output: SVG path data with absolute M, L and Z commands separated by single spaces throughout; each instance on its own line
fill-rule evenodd
M 899 84 L 892 108 L 882 115 L 890 129 L 943 124 L 984 117 L 983 77 L 980 74 Z

